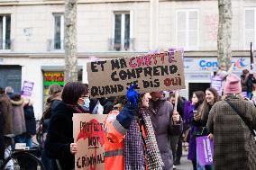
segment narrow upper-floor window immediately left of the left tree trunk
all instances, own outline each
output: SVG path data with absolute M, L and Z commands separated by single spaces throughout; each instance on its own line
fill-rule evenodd
M 54 49 L 63 49 L 64 40 L 64 15 L 54 13 Z

